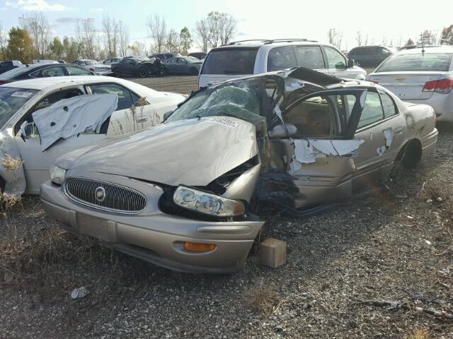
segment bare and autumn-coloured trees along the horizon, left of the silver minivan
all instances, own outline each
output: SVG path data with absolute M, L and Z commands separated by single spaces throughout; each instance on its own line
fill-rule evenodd
M 33 59 L 106 59 L 147 56 L 160 52 L 188 54 L 197 47 L 207 52 L 212 47 L 226 44 L 236 34 L 237 20 L 229 13 L 214 11 L 195 22 L 193 33 L 187 27 L 180 30 L 169 28 L 164 17 L 151 14 L 147 18 L 147 31 L 152 43 L 130 38 L 130 32 L 122 20 L 104 15 L 100 25 L 93 18 L 79 19 L 70 36 L 52 36 L 50 23 L 45 13 L 31 12 L 19 17 L 18 27 L 8 32 L 0 22 L 0 60 L 21 60 L 30 63 Z

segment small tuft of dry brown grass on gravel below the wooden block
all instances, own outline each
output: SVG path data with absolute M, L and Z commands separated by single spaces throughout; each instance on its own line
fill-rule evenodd
M 247 290 L 245 302 L 251 309 L 262 312 L 266 316 L 275 313 L 280 308 L 280 298 L 274 288 L 260 285 Z

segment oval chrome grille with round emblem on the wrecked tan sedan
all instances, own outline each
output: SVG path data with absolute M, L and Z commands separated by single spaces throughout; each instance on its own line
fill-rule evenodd
M 147 198 L 140 192 L 94 179 L 69 178 L 64 191 L 78 203 L 109 212 L 136 214 L 147 206 Z

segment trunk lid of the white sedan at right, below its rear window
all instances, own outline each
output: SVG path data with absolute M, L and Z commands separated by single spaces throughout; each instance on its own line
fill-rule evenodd
M 401 100 L 427 100 L 432 96 L 433 91 L 423 92 L 425 83 L 439 80 L 443 74 L 445 72 L 382 72 L 371 74 L 369 81 L 379 83 L 398 95 Z

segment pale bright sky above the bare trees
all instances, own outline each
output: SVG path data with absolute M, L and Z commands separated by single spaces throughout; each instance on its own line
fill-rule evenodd
M 373 4 L 373 6 L 369 6 Z M 238 20 L 236 40 L 307 38 L 328 42 L 329 28 L 343 35 L 341 49 L 357 45 L 357 30 L 368 36 L 369 44 L 398 45 L 408 38 L 417 40 L 428 29 L 440 34 L 453 24 L 453 0 L 437 1 L 304 1 L 304 0 L 0 0 L 0 22 L 4 30 L 18 25 L 18 16 L 43 11 L 52 34 L 73 35 L 79 18 L 94 18 L 99 30 L 103 15 L 122 20 L 132 42 L 149 42 L 147 17 L 166 18 L 169 28 L 189 30 L 210 11 L 231 13 Z

